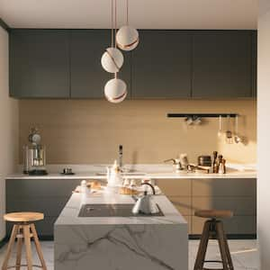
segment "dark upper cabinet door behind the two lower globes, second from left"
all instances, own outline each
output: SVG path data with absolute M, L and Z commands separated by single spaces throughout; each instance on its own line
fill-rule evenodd
M 101 58 L 110 47 L 109 30 L 71 31 L 70 65 L 72 98 L 104 98 L 104 85 L 113 75 L 101 66 Z M 119 77 L 125 81 L 130 94 L 130 53 L 122 52 L 124 64 Z

